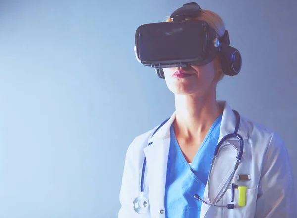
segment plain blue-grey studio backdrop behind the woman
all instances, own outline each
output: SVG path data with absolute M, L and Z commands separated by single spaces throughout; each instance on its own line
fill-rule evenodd
M 135 31 L 185 0 L 0 0 L 0 218 L 116 218 L 128 145 L 174 111 Z M 201 0 L 243 58 L 217 97 L 284 139 L 297 184 L 297 1 Z

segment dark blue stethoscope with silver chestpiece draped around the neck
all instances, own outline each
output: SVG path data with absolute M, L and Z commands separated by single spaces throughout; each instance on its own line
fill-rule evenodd
M 194 195 L 194 198 L 196 200 L 201 201 L 204 204 L 213 205 L 215 207 L 228 208 L 228 209 L 233 209 L 234 208 L 234 204 L 227 204 L 227 205 L 216 205 L 216 204 L 222 199 L 222 197 L 224 196 L 224 194 L 227 192 L 228 187 L 231 185 L 232 178 L 235 175 L 235 172 L 236 172 L 236 170 L 238 168 L 239 162 L 240 162 L 240 160 L 241 160 L 241 158 L 243 156 L 243 151 L 244 151 L 244 140 L 243 140 L 242 136 L 237 133 L 238 132 L 238 129 L 239 129 L 239 124 L 240 124 L 240 116 L 239 116 L 239 113 L 237 111 L 233 110 L 233 112 L 234 112 L 234 114 L 236 116 L 236 124 L 235 124 L 234 132 L 233 133 L 230 133 L 230 134 L 228 134 L 226 136 L 224 136 L 221 139 L 221 141 L 216 146 L 215 151 L 214 151 L 214 154 L 213 154 L 213 159 L 212 159 L 211 166 L 210 166 L 210 171 L 209 171 L 209 174 L 208 174 L 208 181 L 209 181 L 208 182 L 208 188 L 207 188 L 208 202 L 205 201 L 205 200 L 203 200 L 198 194 L 195 194 Z M 159 127 L 154 131 L 154 133 L 152 134 L 152 136 L 168 120 L 169 119 L 165 120 L 161 125 L 159 125 Z M 152 138 L 152 136 L 150 138 Z M 237 150 L 236 163 L 234 165 L 233 172 L 232 172 L 232 174 L 230 176 L 229 183 L 226 186 L 226 188 L 224 189 L 224 191 L 222 192 L 222 194 L 217 198 L 217 200 L 211 201 L 210 200 L 210 181 L 211 181 L 211 175 L 212 175 L 212 170 L 213 170 L 213 166 L 214 166 L 215 160 L 218 157 L 219 149 L 220 149 L 221 145 L 224 143 L 224 141 L 227 140 L 227 139 L 230 139 L 230 138 L 234 138 L 234 137 L 236 137 L 236 138 L 239 139 L 240 145 L 239 145 L 239 150 L 234 145 L 232 145 Z M 148 146 L 151 145 L 152 143 L 153 142 L 148 143 Z M 139 214 L 146 213 L 147 210 L 148 210 L 148 208 L 149 208 L 149 201 L 148 201 L 148 199 L 146 197 L 144 197 L 144 194 L 143 194 L 144 193 L 144 176 L 145 176 L 146 164 L 147 164 L 147 160 L 146 160 L 146 157 L 145 157 L 144 158 L 143 167 L 142 167 L 142 173 L 141 173 L 140 196 L 138 196 L 137 198 L 135 198 L 134 201 L 133 201 L 134 210 L 137 213 L 139 213 Z

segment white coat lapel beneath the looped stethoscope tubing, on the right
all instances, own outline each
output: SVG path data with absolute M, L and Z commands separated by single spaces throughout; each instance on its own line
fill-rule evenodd
M 222 122 L 220 127 L 220 137 L 218 140 L 218 143 L 221 141 L 221 139 L 230 133 L 234 132 L 235 129 L 235 123 L 236 123 L 236 117 L 232 109 L 229 107 L 229 105 L 226 102 L 219 101 L 219 104 L 224 107 L 223 116 L 222 116 Z M 240 134 L 244 140 L 248 139 L 247 132 L 244 129 L 244 126 L 240 123 L 238 134 Z M 220 147 L 218 156 L 216 158 L 216 161 L 214 163 L 213 170 L 211 172 L 212 177 L 210 181 L 207 181 L 205 192 L 203 199 L 208 202 L 208 187 L 210 188 L 210 200 L 213 202 L 216 200 L 226 186 L 228 185 L 228 182 L 230 180 L 230 176 L 233 172 L 235 163 L 236 163 L 236 156 L 237 156 L 237 150 L 233 147 L 235 146 L 237 149 L 239 149 L 239 141 L 236 138 L 232 138 L 229 140 L 226 140 L 222 146 Z M 218 203 L 219 205 L 219 203 Z M 206 205 L 202 203 L 201 207 L 201 218 L 204 218 L 207 213 L 208 217 L 215 217 L 213 213 L 215 211 L 209 210 L 210 205 Z

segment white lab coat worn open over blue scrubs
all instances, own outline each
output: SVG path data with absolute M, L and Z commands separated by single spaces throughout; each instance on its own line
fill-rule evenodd
M 235 115 L 226 102 L 220 128 L 221 140 L 234 132 Z M 118 218 L 165 218 L 164 193 L 167 159 L 170 144 L 170 126 L 175 113 L 155 135 L 154 128 L 136 137 L 126 154 L 122 186 L 120 190 L 121 208 Z M 238 189 L 235 189 L 235 208 L 217 208 L 202 203 L 201 218 L 297 218 L 296 195 L 288 153 L 281 137 L 272 130 L 241 116 L 238 133 L 244 139 L 242 160 L 235 175 L 249 174 L 249 181 L 238 181 L 238 185 L 247 186 L 246 206 L 238 206 Z M 153 142 L 148 146 L 149 142 Z M 211 200 L 223 191 L 233 171 L 238 139 L 230 139 L 223 145 L 213 168 L 210 184 Z M 230 145 L 231 144 L 231 145 Z M 149 199 L 149 210 L 138 214 L 133 209 L 133 200 L 140 195 L 140 177 L 144 157 L 147 159 L 145 171 L 145 196 Z M 234 181 L 234 180 L 233 180 Z M 208 201 L 206 184 L 204 200 Z M 231 187 L 228 188 L 218 205 L 231 203 Z M 196 193 L 193 193 L 193 195 Z

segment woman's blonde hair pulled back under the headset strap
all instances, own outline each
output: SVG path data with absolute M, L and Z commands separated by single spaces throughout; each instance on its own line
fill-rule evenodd
M 201 9 L 199 14 L 196 17 L 188 18 L 188 19 L 186 18 L 186 20 L 190 20 L 190 19 L 205 21 L 206 23 L 208 23 L 208 25 L 210 27 L 212 27 L 216 31 L 216 33 L 218 34 L 219 37 L 222 37 L 225 33 L 226 29 L 225 29 L 225 24 L 224 24 L 222 18 L 218 14 L 216 14 L 210 10 Z M 166 22 L 172 22 L 172 21 L 173 21 L 173 19 L 170 16 L 166 19 Z M 225 74 L 223 73 L 223 71 L 220 71 L 219 75 L 217 75 L 218 81 L 223 79 L 224 75 Z

